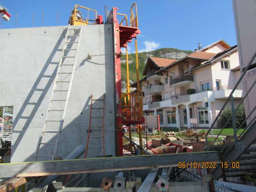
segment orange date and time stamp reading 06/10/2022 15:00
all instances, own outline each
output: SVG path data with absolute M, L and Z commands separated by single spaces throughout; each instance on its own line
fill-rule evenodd
M 239 162 L 221 162 L 220 163 L 221 168 L 239 168 L 240 163 Z M 179 162 L 178 163 L 179 168 L 217 168 L 216 162 Z

